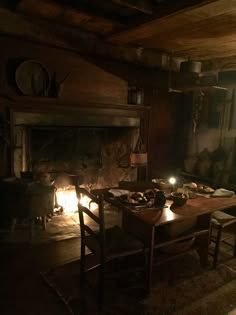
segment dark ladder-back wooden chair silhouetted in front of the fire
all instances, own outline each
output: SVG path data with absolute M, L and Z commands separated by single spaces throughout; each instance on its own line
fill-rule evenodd
M 104 225 L 104 196 L 96 196 L 84 188 L 76 187 L 78 197 L 78 210 L 81 229 L 81 258 L 80 258 L 80 284 L 84 286 L 86 273 L 94 268 L 99 268 L 98 305 L 102 309 L 104 301 L 105 267 L 108 262 L 120 257 L 143 253 L 144 244 L 132 235 L 125 233 L 120 227 L 105 228 Z M 98 215 L 80 203 L 80 196 L 89 197 L 98 205 Z M 87 215 L 92 224 L 85 222 Z M 96 228 L 94 228 L 94 223 Z M 90 225 L 90 226 L 89 226 Z M 92 225 L 92 227 L 91 227 Z M 86 266 L 86 247 L 97 258 L 93 266 Z

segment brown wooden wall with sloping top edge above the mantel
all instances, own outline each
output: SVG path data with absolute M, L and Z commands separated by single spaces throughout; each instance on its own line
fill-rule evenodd
M 0 39 L 0 46 L 1 94 L 17 94 L 14 86 L 15 63 L 34 59 L 42 62 L 51 75 L 56 73 L 59 81 L 68 76 L 60 95 L 63 101 L 127 102 L 125 80 L 87 62 L 76 53 L 10 38 Z

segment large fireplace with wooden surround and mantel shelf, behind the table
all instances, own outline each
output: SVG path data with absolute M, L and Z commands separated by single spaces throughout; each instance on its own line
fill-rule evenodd
M 144 107 L 67 106 L 66 112 L 61 108 L 49 112 L 49 106 L 39 105 L 40 112 L 13 112 L 16 176 L 22 171 L 47 173 L 55 181 L 58 194 L 66 192 L 74 200 L 72 178 L 89 189 L 137 179 L 130 153 L 143 131 Z

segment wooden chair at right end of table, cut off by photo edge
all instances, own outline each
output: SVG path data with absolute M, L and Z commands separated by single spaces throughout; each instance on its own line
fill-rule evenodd
M 213 256 L 213 268 L 216 268 L 220 252 L 221 242 L 231 245 L 227 239 L 232 238 L 232 234 L 224 235 L 224 229 L 234 226 L 234 245 L 233 255 L 236 256 L 236 216 L 228 214 L 224 211 L 215 211 L 211 219 L 210 243 L 214 243 L 214 250 L 209 250 L 209 255 Z M 232 245 L 231 245 L 232 246 Z

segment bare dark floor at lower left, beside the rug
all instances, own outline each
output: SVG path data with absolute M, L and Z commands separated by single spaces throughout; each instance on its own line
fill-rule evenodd
M 43 245 L 3 245 L 1 315 L 66 315 L 68 311 L 43 282 L 40 271 L 79 257 L 78 238 Z

